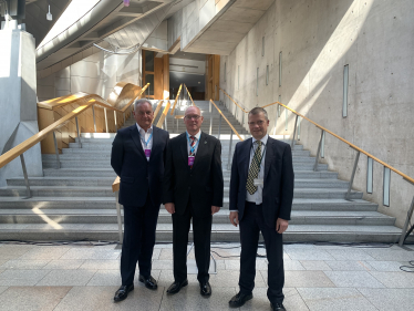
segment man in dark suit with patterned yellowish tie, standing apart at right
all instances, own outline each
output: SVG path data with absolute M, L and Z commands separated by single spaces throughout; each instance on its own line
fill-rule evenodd
M 240 291 L 229 301 L 239 308 L 252 298 L 256 255 L 261 231 L 268 265 L 268 298 L 272 310 L 283 302 L 282 234 L 288 228 L 293 200 L 293 166 L 290 146 L 267 134 L 267 112 L 249 113 L 252 137 L 236 145 L 230 179 L 230 221 L 240 225 Z

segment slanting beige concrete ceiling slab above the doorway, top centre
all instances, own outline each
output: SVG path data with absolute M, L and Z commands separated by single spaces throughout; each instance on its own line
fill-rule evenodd
M 275 0 L 236 0 L 222 14 L 214 19 L 185 52 L 228 55 L 259 21 Z

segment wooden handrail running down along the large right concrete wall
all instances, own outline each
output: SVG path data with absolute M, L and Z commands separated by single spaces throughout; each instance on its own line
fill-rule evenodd
M 238 103 L 236 103 L 236 102 L 231 99 L 231 96 L 230 96 L 229 94 L 227 94 L 227 93 L 226 93 L 226 92 L 225 92 L 220 86 L 219 86 L 219 89 L 221 90 L 222 93 L 225 93 L 225 94 L 230 99 L 231 102 L 234 102 L 234 103 L 235 103 L 238 107 L 240 107 L 245 113 L 248 113 L 248 111 L 245 111 L 245 110 L 244 110 L 244 108 L 242 108 Z M 345 144 L 349 145 L 351 148 L 353 148 L 353 149 L 355 149 L 355 151 L 358 151 L 358 152 L 361 152 L 362 154 L 364 154 L 364 155 L 366 155 L 368 157 L 370 157 L 370 158 L 376 160 L 376 162 L 380 163 L 381 165 L 383 165 L 383 166 L 390 168 L 390 169 L 391 169 L 392 172 L 394 172 L 395 174 L 402 176 L 405 180 L 407 180 L 407 182 L 414 184 L 414 178 L 412 178 L 412 177 L 405 175 L 404 173 L 400 172 L 399 169 L 392 167 L 391 165 L 386 164 L 385 162 L 383 162 L 383 160 L 379 159 L 377 157 L 373 156 L 372 154 L 365 152 L 364 149 L 361 149 L 360 147 L 358 147 L 358 146 L 355 146 L 354 144 L 348 142 L 346 139 L 342 138 L 341 136 L 334 134 L 333 132 L 329 131 L 328 128 L 323 127 L 322 125 L 320 125 L 320 124 L 318 124 L 318 123 L 311 121 L 310 118 L 308 118 L 308 117 L 306 117 L 304 115 L 298 113 L 297 111 L 294 111 L 294 110 L 292 110 L 292 108 L 290 108 L 290 107 L 283 105 L 282 103 L 280 103 L 280 102 L 275 102 L 275 103 L 271 103 L 271 104 L 268 104 L 268 105 L 261 106 L 261 107 L 262 107 L 262 108 L 266 108 L 266 107 L 269 107 L 269 106 L 272 106 L 272 105 L 280 105 L 280 106 L 282 106 L 282 107 L 284 107 L 284 108 L 291 111 L 291 112 L 294 113 L 296 115 L 299 115 L 300 117 L 304 118 L 306 121 L 309 121 L 310 123 L 312 123 L 313 125 L 315 125 L 318 128 L 320 128 L 320 129 L 322 129 L 322 131 L 324 131 L 324 132 L 331 134 L 333 137 L 335 137 L 335 138 L 340 139 L 341 142 L 345 143 Z

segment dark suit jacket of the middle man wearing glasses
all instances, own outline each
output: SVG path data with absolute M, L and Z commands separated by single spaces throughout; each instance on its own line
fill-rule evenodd
M 221 144 L 201 132 L 193 168 L 188 166 L 186 133 L 170 139 L 164 177 L 164 204 L 174 203 L 183 215 L 190 200 L 194 214 L 211 215 L 211 206 L 222 206 Z

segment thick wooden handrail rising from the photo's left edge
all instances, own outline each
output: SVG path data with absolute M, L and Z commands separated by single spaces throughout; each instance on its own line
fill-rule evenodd
M 92 99 L 89 100 L 83 105 L 79 106 L 74 111 L 68 113 L 65 116 L 61 117 L 56 122 L 49 125 L 46 128 L 42 129 L 38 134 L 33 135 L 29 139 L 25 139 L 23 143 L 17 145 L 14 148 L 8 151 L 3 155 L 0 156 L 0 168 L 7 165 L 8 163 L 12 162 L 14 158 L 33 147 L 35 144 L 43 141 L 49 134 L 53 133 L 54 129 L 59 128 L 70 120 L 76 117 L 81 113 L 83 113 L 85 110 L 87 110 L 90 106 L 99 103 L 96 100 Z M 102 104 L 102 103 L 99 103 Z

